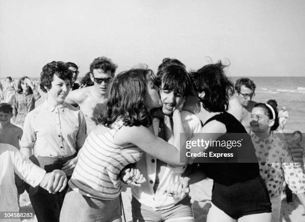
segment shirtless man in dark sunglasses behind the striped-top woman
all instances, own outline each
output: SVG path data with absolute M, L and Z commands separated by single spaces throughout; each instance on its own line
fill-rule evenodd
M 97 118 L 107 103 L 108 87 L 117 67 L 106 57 L 94 59 L 90 64 L 90 78 L 94 85 L 71 91 L 65 100 L 69 104 L 78 104 L 86 118 L 87 133 L 98 124 Z

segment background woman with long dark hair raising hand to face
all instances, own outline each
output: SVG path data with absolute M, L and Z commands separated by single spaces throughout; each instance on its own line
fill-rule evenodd
M 13 101 L 13 122 L 18 126 L 23 126 L 27 113 L 35 109 L 35 102 L 40 98 L 38 90 L 33 81 L 24 76 L 19 79 L 17 93 Z

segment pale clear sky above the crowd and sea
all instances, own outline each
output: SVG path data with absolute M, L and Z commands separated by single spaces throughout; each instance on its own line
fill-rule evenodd
M 228 76 L 303 76 L 304 0 L 0 0 L 0 78 L 39 77 L 53 60 L 80 76 L 94 58 L 117 72 L 164 57 Z

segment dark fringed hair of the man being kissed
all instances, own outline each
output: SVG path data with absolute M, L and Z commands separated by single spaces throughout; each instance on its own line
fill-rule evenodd
M 168 90 L 188 96 L 191 93 L 191 81 L 187 71 L 180 65 L 168 65 L 157 72 L 155 84 L 162 90 Z

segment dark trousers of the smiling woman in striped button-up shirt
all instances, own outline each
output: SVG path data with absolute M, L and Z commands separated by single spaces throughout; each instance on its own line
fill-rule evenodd
M 65 162 L 74 157 L 75 155 L 57 159 L 51 157 L 31 156 L 30 160 L 32 160 L 36 165 L 39 164 L 39 167 L 49 173 L 55 169 L 61 169 Z M 70 177 L 67 179 L 69 180 Z M 68 187 L 69 186 L 66 186 L 62 192 L 57 192 L 56 194 L 49 194 L 48 191 L 41 187 L 34 189 L 34 192 L 28 192 L 38 222 L 59 222 L 60 210 Z

